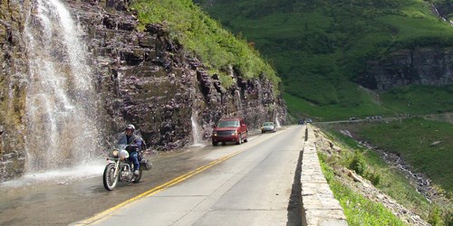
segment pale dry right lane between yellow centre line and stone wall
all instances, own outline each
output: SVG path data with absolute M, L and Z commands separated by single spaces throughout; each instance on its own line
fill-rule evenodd
M 303 127 L 291 127 L 241 146 L 224 146 L 205 156 L 219 162 L 187 180 L 78 223 L 300 225 L 295 200 L 300 191 L 293 186 L 299 182 L 302 142 Z

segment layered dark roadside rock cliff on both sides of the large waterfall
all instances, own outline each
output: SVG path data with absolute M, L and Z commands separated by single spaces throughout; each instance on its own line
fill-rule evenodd
M 246 118 L 252 129 L 265 120 L 284 124 L 284 102 L 272 82 L 264 76 L 243 80 L 232 67 L 235 83 L 223 87 L 201 61 L 171 41 L 161 25 L 149 24 L 139 32 L 127 1 L 64 4 L 86 31 L 83 38 L 101 96 L 100 129 L 106 139 L 132 123 L 149 146 L 169 150 L 193 143 L 191 118 L 204 139 L 219 118 L 229 116 Z M 30 81 L 24 79 L 28 69 L 23 31 L 29 5 L 27 0 L 4 1 L 0 8 L 0 181 L 23 174 L 27 160 L 24 102 Z

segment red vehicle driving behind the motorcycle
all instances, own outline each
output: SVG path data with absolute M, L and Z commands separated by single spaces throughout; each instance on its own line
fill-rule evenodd
M 247 142 L 248 127 L 244 118 L 223 118 L 214 127 L 211 138 L 213 146 L 217 146 L 219 142 L 223 145 L 226 142 L 236 142 L 240 145 L 242 142 Z

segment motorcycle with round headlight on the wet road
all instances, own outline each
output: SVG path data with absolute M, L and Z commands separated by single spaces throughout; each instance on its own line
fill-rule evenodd
M 126 150 L 127 147 L 127 145 L 111 146 L 109 157 L 107 158 L 109 163 L 105 165 L 104 174 L 102 176 L 104 187 L 108 191 L 115 189 L 118 182 L 139 183 L 143 171 L 150 170 L 152 167 L 149 160 L 141 157 L 143 151 L 140 151 L 139 174 L 134 174 L 134 165 L 129 160 L 129 152 Z

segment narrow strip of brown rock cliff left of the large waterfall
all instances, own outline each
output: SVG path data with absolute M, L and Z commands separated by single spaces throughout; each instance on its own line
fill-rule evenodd
M 24 7 L 27 1 L 22 3 Z M 24 106 L 27 73 L 24 14 L 17 1 L 0 3 L 0 181 L 24 172 Z

